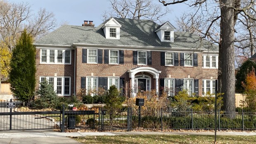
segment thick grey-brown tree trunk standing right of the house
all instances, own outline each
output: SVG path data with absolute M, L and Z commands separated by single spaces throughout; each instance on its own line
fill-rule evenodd
M 235 49 L 233 0 L 220 0 L 221 13 L 221 92 L 224 110 L 230 118 L 235 117 Z

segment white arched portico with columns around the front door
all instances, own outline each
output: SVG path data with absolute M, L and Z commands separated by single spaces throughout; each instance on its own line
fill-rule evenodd
M 159 92 L 159 85 L 158 85 L 158 79 L 159 79 L 159 73 L 161 71 L 156 70 L 155 68 L 151 67 L 139 67 L 134 68 L 132 70 L 128 70 L 129 77 L 131 78 L 131 89 L 134 88 L 137 89 L 137 87 L 140 87 L 142 90 L 150 90 L 151 87 L 151 78 L 149 76 L 143 75 L 143 73 L 150 73 L 153 78 L 156 79 L 156 93 Z M 142 73 L 142 75 L 135 76 L 136 73 Z M 132 92 L 132 96 L 135 96 L 135 92 Z

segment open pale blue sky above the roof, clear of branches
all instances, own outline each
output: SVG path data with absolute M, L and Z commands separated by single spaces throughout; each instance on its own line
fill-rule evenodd
M 9 2 L 27 2 L 31 5 L 34 13 L 40 7 L 55 14 L 57 23 L 80 26 L 83 21 L 93 21 L 95 26 L 100 25 L 102 14 L 105 10 L 110 10 L 109 0 L 8 0 Z M 158 2 L 158 0 L 153 0 Z M 164 7 L 164 6 L 163 6 Z M 183 14 L 186 10 L 185 4 L 168 6 L 171 12 L 163 19 L 170 21 L 175 26 L 176 17 Z

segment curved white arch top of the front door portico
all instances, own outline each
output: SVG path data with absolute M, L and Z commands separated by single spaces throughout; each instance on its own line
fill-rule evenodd
M 159 73 L 161 73 L 161 71 L 157 71 L 155 68 L 152 67 L 138 67 L 132 70 L 128 70 L 127 72 L 129 73 L 130 78 L 135 78 L 135 74 L 142 71 L 152 74 L 153 78 L 159 78 Z

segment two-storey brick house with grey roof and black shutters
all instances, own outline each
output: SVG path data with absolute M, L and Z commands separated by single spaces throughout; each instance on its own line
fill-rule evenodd
M 47 78 L 59 96 L 111 85 L 125 96 L 148 90 L 173 96 L 181 88 L 200 96 L 215 91 L 218 46 L 174 30 L 168 21 L 160 26 L 123 18 L 97 27 L 92 21 L 61 26 L 34 44 L 37 86 Z

